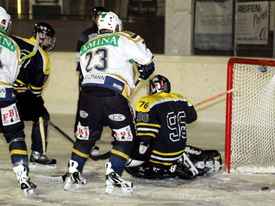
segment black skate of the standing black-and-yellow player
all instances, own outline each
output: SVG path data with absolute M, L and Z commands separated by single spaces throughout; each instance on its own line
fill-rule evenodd
M 31 169 L 55 169 L 56 160 L 48 158 L 45 154 L 32 151 L 30 158 Z

